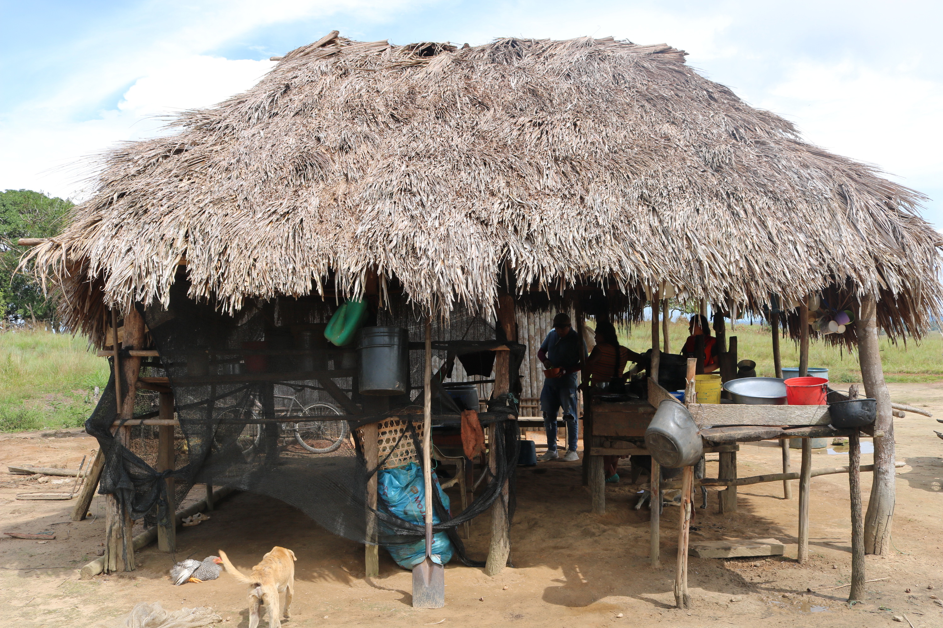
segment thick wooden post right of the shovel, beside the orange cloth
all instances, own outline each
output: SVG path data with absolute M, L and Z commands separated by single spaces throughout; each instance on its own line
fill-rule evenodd
M 505 338 L 510 342 L 517 342 L 518 331 L 517 323 L 514 318 L 514 298 L 511 295 L 503 294 L 498 297 L 498 324 L 505 331 Z M 582 340 L 582 329 L 580 339 Z M 505 395 L 510 392 L 510 352 L 498 351 L 494 359 L 494 388 L 491 395 Z M 488 466 L 492 475 L 497 475 L 498 470 L 498 452 L 495 447 L 497 443 L 499 424 L 492 423 L 488 426 Z M 507 507 L 509 504 L 510 487 L 508 481 L 501 486 L 501 495 L 495 500 L 491 507 L 491 542 L 488 547 L 488 561 L 485 565 L 485 572 L 488 575 L 497 575 L 507 564 L 507 558 L 511 554 L 511 531 L 510 522 L 507 519 Z

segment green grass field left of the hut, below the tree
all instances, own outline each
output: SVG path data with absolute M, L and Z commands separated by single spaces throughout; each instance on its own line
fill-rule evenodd
M 0 332 L 0 431 L 79 427 L 94 408 L 108 362 L 82 337 Z

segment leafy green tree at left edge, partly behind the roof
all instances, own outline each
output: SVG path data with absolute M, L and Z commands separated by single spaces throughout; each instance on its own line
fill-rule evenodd
M 21 237 L 53 237 L 61 232 L 72 201 L 33 190 L 0 192 L 0 315 L 11 319 L 44 320 L 55 310 L 42 286 L 31 276 L 14 273 L 23 250 Z

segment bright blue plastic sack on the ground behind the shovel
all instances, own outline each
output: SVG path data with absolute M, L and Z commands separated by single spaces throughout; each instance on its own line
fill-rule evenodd
M 438 477 L 432 475 L 432 484 L 438 491 L 442 506 L 449 510 L 449 496 L 438 485 Z M 425 482 L 422 479 L 422 466 L 410 462 L 395 469 L 381 469 L 377 472 L 377 490 L 380 499 L 400 519 L 410 523 L 425 523 Z M 451 515 L 451 510 L 449 510 Z M 439 523 L 438 515 L 432 513 L 432 523 Z M 425 539 L 402 545 L 384 545 L 400 567 L 412 571 L 412 568 L 425 559 Z M 437 532 L 432 537 L 432 559 L 440 565 L 452 560 L 455 548 L 444 532 Z

